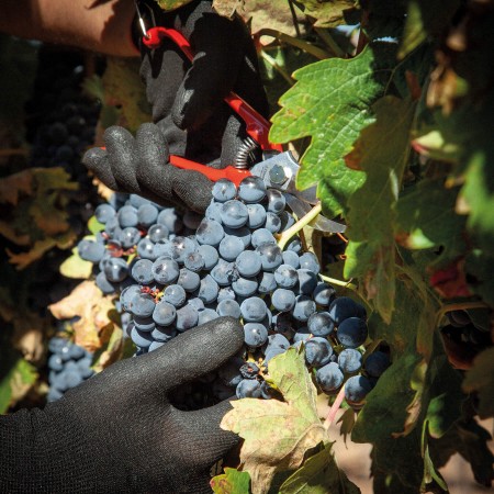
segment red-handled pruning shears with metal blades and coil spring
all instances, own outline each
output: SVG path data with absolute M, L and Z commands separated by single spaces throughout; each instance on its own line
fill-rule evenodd
M 171 40 L 189 58 L 193 60 L 194 54 L 189 41 L 178 31 L 165 26 L 154 25 L 146 29 L 138 2 L 135 2 L 138 21 L 143 31 L 143 43 L 154 49 L 158 48 L 165 38 Z M 151 12 L 153 23 L 154 15 Z M 260 177 L 266 187 L 274 188 L 284 193 L 287 203 L 297 217 L 305 215 L 312 205 L 317 204 L 316 186 L 300 191 L 295 187 L 296 173 L 300 165 L 290 150 L 283 151 L 280 144 L 271 143 L 268 138 L 270 122 L 260 115 L 250 104 L 243 100 L 238 94 L 231 92 L 225 102 L 234 110 L 246 123 L 248 134 L 247 147 L 255 144 L 262 150 L 263 160 L 254 165 L 250 169 L 245 168 L 247 162 L 240 162 L 227 166 L 223 169 L 211 168 L 180 156 L 170 156 L 170 164 L 187 170 L 195 170 L 207 177 L 211 181 L 228 179 L 238 186 L 246 177 Z M 344 233 L 346 225 L 328 220 L 321 214 L 312 223 L 312 226 L 323 232 Z

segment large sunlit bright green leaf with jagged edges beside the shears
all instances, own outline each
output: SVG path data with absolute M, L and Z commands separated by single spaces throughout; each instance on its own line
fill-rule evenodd
M 327 214 L 345 212 L 364 180 L 344 157 L 360 131 L 373 122 L 370 106 L 384 94 L 394 63 L 393 52 L 375 43 L 352 59 L 329 58 L 296 70 L 297 82 L 280 99 L 282 109 L 272 117 L 270 139 L 312 137 L 296 184 L 302 190 L 318 184 Z

